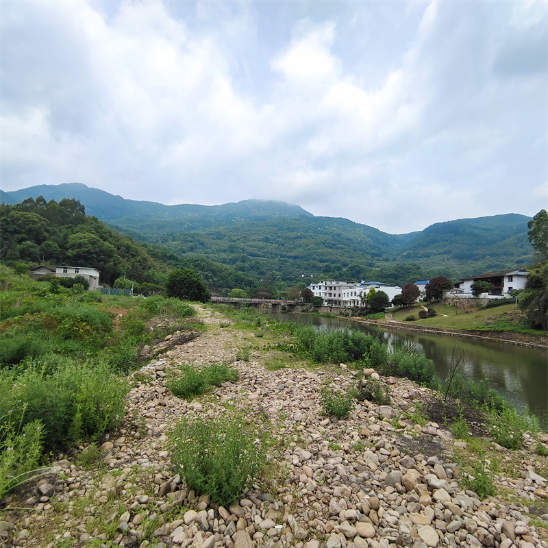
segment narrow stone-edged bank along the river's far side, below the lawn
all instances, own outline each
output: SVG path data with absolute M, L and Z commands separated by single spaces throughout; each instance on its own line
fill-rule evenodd
M 432 327 L 430 325 L 416 325 L 412 322 L 403 322 L 396 320 L 367 320 L 360 316 L 338 316 L 341 319 L 351 319 L 367 325 L 379 325 L 382 327 L 393 327 L 395 329 L 405 329 L 414 332 L 426 332 L 438 335 L 449 335 L 467 338 L 481 338 L 486 340 L 496 340 L 499 343 L 509 345 L 521 345 L 531 348 L 548 349 L 548 336 L 530 335 L 526 333 L 516 333 L 508 331 L 481 331 L 479 329 L 445 329 L 443 327 Z

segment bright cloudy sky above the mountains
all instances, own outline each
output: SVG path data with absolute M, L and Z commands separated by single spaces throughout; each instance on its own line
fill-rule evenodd
M 548 3 L 0 1 L 0 188 L 297 203 L 401 234 L 548 206 Z

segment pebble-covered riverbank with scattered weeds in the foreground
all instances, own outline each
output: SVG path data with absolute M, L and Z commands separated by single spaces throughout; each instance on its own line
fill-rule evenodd
M 427 389 L 380 377 L 389 405 L 360 401 L 344 419 L 324 416 L 323 386 L 347 390 L 356 384 L 347 366 L 295 362 L 275 350 L 274 338 L 258 338 L 218 312 L 196 308 L 208 329 L 134 375 L 125 419 L 102 440 L 95 460 L 92 448 L 59 455 L 48 475 L 4 501 L 0 543 L 547 548 L 539 518 L 548 521 L 548 458 L 536 453 L 534 438 L 516 452 L 486 440 L 483 462 L 497 495 L 480 499 L 464 485 L 471 442 L 419 420 L 417 403 L 427 399 Z M 242 351 L 247 361 L 236 359 Z M 173 369 L 212 362 L 236 369 L 238 381 L 190 402 L 166 388 Z M 282 362 L 283 369 L 271 367 Z M 182 416 L 207 418 L 232 406 L 253 423 L 266 421 L 271 466 L 237 503 L 223 508 L 186 488 L 167 440 Z M 548 449 L 548 436 L 540 443 Z

